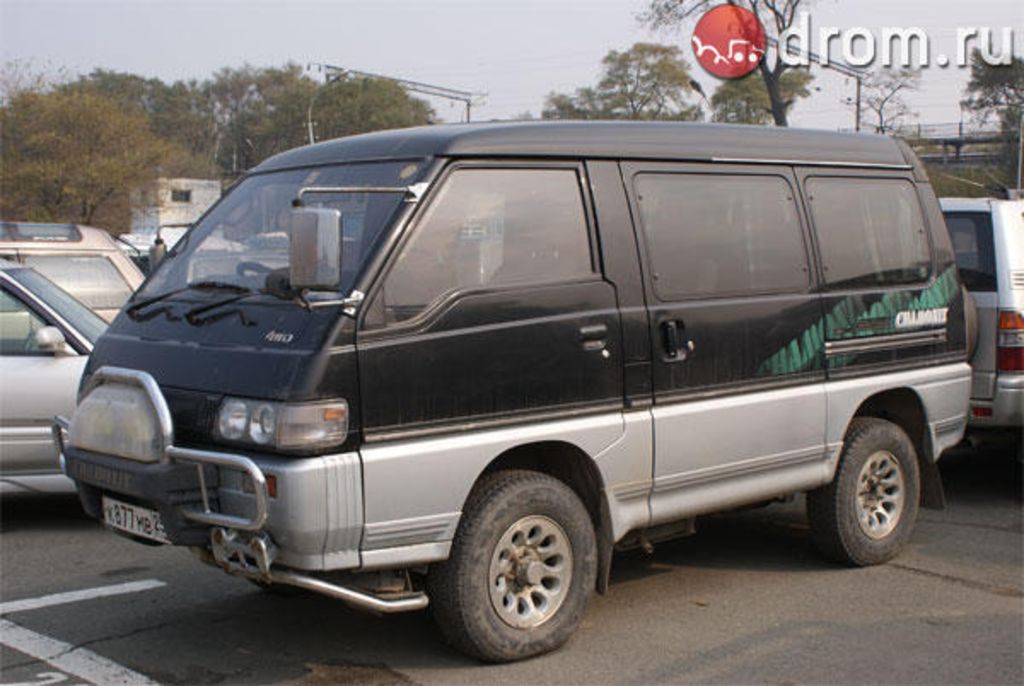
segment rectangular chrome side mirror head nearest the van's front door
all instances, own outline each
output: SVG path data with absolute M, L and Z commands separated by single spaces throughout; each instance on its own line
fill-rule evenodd
M 341 212 L 292 209 L 289 283 L 293 289 L 337 290 L 341 284 Z

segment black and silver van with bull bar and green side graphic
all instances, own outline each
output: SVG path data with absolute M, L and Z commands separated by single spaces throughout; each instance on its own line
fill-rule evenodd
M 279 155 L 98 341 L 85 509 L 264 586 L 428 603 L 485 660 L 552 650 L 616 546 L 806 491 L 896 555 L 971 371 L 938 203 L 882 136 L 439 126 Z

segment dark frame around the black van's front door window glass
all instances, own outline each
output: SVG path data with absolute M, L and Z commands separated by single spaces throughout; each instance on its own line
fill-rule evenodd
M 480 169 L 527 169 L 540 171 L 562 169 L 575 172 L 577 182 L 580 188 L 580 200 L 584 210 L 588 248 L 590 250 L 591 273 L 574 278 L 556 277 L 549 281 L 504 284 L 493 287 L 459 288 L 441 294 L 440 297 L 431 301 L 427 307 L 416 316 L 402 321 L 385 323 L 384 326 L 380 328 L 368 329 L 366 326 L 366 317 L 372 309 L 373 303 L 380 294 L 384 284 L 387 282 L 388 275 L 395 267 L 398 257 L 406 249 L 406 246 L 422 225 L 430 208 L 435 202 L 437 202 L 440 190 L 455 173 L 463 170 Z M 399 228 L 400 235 L 397 235 L 395 240 L 391 242 L 388 254 L 382 263 L 381 268 L 377 270 L 372 284 L 367 289 L 367 295 L 362 301 L 364 305 L 359 307 L 356 321 L 356 330 L 359 332 L 359 336 L 364 340 L 390 338 L 392 336 L 401 336 L 429 329 L 429 327 L 440 315 L 447 311 L 456 302 L 462 300 L 468 295 L 500 293 L 502 291 L 510 290 L 521 291 L 531 288 L 543 289 L 560 284 L 587 284 L 604 281 L 603 259 L 601 257 L 600 242 L 596 230 L 597 222 L 594 214 L 594 203 L 591 188 L 589 186 L 590 181 L 587 176 L 587 169 L 583 160 L 456 160 L 445 165 L 445 167 L 438 172 L 431 182 L 427 195 L 420 203 L 418 203 L 414 214 L 409 218 L 404 225 Z

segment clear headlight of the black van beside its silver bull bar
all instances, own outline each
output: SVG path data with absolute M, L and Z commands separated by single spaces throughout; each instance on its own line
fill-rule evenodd
M 348 403 L 282 403 L 225 398 L 216 424 L 217 438 L 267 446 L 286 453 L 306 453 L 345 442 Z

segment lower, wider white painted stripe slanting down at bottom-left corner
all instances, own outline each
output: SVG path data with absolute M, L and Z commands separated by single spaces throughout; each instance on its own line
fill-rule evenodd
M 144 677 L 138 672 L 132 672 L 126 667 L 121 667 L 91 650 L 76 648 L 70 643 L 37 634 L 7 619 L 0 619 L 0 642 L 30 657 L 43 660 L 61 672 L 67 672 L 93 684 L 102 684 L 103 686 L 108 684 L 112 686 L 156 686 L 157 684 L 148 677 Z

